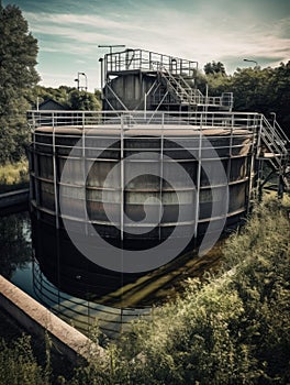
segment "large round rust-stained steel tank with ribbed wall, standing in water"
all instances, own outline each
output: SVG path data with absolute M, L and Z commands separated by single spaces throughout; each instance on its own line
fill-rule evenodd
M 210 223 L 214 232 L 216 222 L 220 232 L 221 221 L 233 228 L 245 215 L 253 143 L 246 125 L 207 124 L 201 130 L 182 120 L 38 127 L 30 156 L 32 212 L 62 229 L 62 200 L 71 222 L 89 221 L 109 243 L 129 250 L 159 244 L 178 227 L 177 237 L 192 233 L 186 250 L 202 239 Z

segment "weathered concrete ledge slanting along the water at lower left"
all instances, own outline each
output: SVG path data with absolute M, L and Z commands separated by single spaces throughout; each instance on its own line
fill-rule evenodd
M 30 333 L 44 338 L 75 363 L 104 358 L 104 349 L 59 319 L 52 311 L 0 275 L 0 307 Z

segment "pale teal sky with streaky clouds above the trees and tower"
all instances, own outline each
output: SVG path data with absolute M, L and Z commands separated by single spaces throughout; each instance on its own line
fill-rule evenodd
M 45 87 L 100 88 L 98 45 L 124 44 L 199 63 L 222 62 L 226 73 L 290 59 L 289 0 L 3 0 L 18 6 L 38 41 Z M 124 50 L 124 48 L 116 48 Z M 82 82 L 81 82 L 82 81 Z M 85 77 L 80 76 L 80 86 Z

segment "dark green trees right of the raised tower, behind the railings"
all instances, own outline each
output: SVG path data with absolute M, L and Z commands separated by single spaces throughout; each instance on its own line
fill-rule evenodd
M 210 96 L 233 92 L 234 110 L 261 112 L 270 121 L 276 114 L 290 138 L 290 61 L 276 68 L 237 68 L 233 75 L 226 75 L 222 63 L 212 62 L 204 66 L 204 73 L 198 76 L 203 94 L 207 84 Z

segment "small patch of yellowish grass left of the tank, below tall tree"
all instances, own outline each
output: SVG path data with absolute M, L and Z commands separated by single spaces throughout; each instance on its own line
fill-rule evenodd
M 0 194 L 29 187 L 29 162 L 0 166 Z

